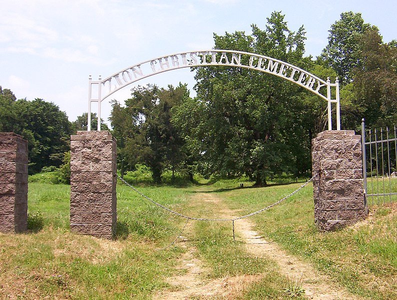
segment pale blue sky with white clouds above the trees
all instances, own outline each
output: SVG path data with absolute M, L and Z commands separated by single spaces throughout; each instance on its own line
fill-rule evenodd
M 89 75 L 96 80 L 152 58 L 210 50 L 214 33 L 251 34 L 250 26 L 264 29 L 274 11 L 291 31 L 303 25 L 307 56 L 321 53 L 330 26 L 348 11 L 377 26 L 383 42 L 397 39 L 395 0 L 0 0 L 0 8 L 0 86 L 17 99 L 52 102 L 70 121 L 87 112 Z M 193 76 L 185 68 L 135 84 L 182 82 L 192 90 Z M 132 87 L 102 102 L 102 119 L 109 100 L 123 103 Z

